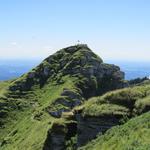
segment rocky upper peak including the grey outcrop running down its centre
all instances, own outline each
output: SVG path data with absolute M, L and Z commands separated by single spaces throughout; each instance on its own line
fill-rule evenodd
M 73 79 L 76 92 L 64 88 L 61 97 L 55 100 L 53 105 L 65 107 L 55 111 L 53 105 L 48 108 L 49 113 L 55 117 L 60 117 L 62 112 L 80 105 L 83 100 L 125 85 L 124 73 L 118 66 L 103 63 L 86 44 L 79 44 L 49 56 L 29 73 L 15 80 L 10 90 L 23 92 L 32 90 L 35 86 L 41 89 L 51 82 L 63 84 L 65 77 Z

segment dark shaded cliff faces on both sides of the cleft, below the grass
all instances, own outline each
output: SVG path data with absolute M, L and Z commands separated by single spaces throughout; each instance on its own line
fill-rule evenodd
M 111 127 L 120 124 L 121 115 L 104 115 L 101 117 L 75 115 L 77 121 L 65 125 L 53 125 L 47 134 L 44 150 L 64 150 L 67 148 L 66 141 L 76 136 L 74 149 L 77 149 L 98 134 L 104 134 Z

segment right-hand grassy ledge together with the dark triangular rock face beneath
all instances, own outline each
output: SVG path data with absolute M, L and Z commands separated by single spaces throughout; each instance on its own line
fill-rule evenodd
M 150 110 L 150 84 L 124 88 L 95 97 L 75 109 L 78 145 L 82 146 L 115 125 Z M 90 133 L 90 134 L 89 134 Z

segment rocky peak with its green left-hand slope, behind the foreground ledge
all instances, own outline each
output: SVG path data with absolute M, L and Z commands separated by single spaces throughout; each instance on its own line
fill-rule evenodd
M 126 83 L 119 67 L 103 63 L 87 45 L 76 45 L 1 85 L 0 149 L 40 150 L 49 149 L 45 146 L 49 130 L 53 122 L 64 124 L 63 119 L 57 119 L 63 112 Z M 72 126 L 69 121 L 68 127 Z

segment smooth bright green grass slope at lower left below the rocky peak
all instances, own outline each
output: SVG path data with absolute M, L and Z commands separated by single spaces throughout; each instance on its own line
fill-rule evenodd
M 32 88 L 24 96 L 19 97 L 16 94 L 18 97 L 7 97 L 9 106 L 15 108 L 11 108 L 10 112 L 8 111 L 7 117 L 4 119 L 4 125 L 0 128 L 0 149 L 42 149 L 51 123 L 57 120 L 51 117 L 45 111 L 45 108 L 60 96 L 63 88 L 73 88 L 72 81 L 71 78 L 65 77 L 63 84 L 50 82 L 42 89 Z M 5 83 L 1 83 L 1 85 L 5 86 Z M 7 93 L 5 96 L 9 96 L 10 91 L 6 90 L 5 92 Z M 3 93 L 3 88 L 1 93 Z

